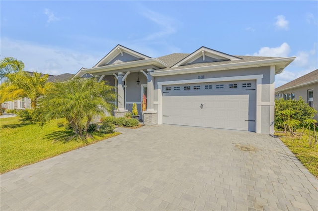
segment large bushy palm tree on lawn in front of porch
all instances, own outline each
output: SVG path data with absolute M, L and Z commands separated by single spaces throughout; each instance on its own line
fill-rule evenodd
M 76 135 L 85 136 L 94 117 L 111 113 L 116 100 L 114 87 L 95 79 L 75 78 L 61 83 L 52 83 L 48 92 L 39 99 L 38 121 L 42 124 L 65 117 Z

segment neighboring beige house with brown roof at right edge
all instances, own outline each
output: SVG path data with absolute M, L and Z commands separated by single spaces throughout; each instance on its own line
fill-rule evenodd
M 318 69 L 275 89 L 275 98 L 303 100 L 318 110 Z M 318 121 L 318 114 L 314 119 Z

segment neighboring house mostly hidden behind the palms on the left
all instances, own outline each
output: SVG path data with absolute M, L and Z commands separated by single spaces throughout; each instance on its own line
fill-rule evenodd
M 25 71 L 30 74 L 33 74 L 33 72 Z M 42 74 L 45 75 L 45 74 Z M 74 76 L 74 74 L 71 73 L 64 73 L 61 75 L 49 75 L 48 76 L 48 82 L 54 82 L 54 81 L 65 81 L 69 80 Z M 25 109 L 25 108 L 31 108 L 31 100 L 29 98 L 22 98 L 19 100 L 14 101 L 7 101 L 2 104 L 2 107 L 5 107 L 6 109 Z

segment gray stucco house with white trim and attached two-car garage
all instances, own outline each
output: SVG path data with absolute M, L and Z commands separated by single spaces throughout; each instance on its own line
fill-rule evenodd
M 145 124 L 176 124 L 274 133 L 274 79 L 295 57 L 233 56 L 201 47 L 151 58 L 121 45 L 76 76 L 108 81 L 115 116 L 141 113 Z

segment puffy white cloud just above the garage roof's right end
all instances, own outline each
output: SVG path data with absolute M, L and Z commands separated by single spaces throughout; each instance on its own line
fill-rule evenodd
M 271 56 L 271 57 L 286 57 L 290 53 L 290 46 L 287 43 L 283 43 L 279 47 L 262 47 L 258 53 L 254 53 L 254 56 Z

